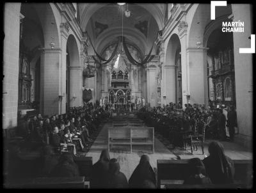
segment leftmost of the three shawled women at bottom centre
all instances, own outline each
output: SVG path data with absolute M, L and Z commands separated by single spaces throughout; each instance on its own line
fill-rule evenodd
M 102 150 L 99 161 L 92 166 L 92 189 L 106 188 L 109 161 L 110 157 L 108 150 Z

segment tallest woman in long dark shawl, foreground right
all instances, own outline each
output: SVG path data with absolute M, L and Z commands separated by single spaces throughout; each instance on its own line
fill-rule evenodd
M 203 162 L 212 183 L 233 183 L 234 162 L 224 154 L 223 145 L 219 141 L 212 141 L 208 150 L 210 155 Z

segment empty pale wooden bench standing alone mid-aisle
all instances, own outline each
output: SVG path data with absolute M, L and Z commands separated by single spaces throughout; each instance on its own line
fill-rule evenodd
M 154 127 L 111 127 L 108 129 L 108 150 L 112 145 L 151 145 L 154 153 Z

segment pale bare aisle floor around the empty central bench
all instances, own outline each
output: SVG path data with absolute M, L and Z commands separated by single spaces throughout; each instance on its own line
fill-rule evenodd
M 86 154 L 88 157 L 93 157 L 93 164 L 99 160 L 100 153 L 103 149 L 108 149 L 108 127 L 109 124 L 105 124 L 99 133 L 97 139 L 95 139 L 90 151 Z M 132 149 L 133 151 L 133 149 Z M 140 157 L 143 154 L 147 154 L 150 158 L 150 164 L 152 168 L 157 168 L 157 159 L 176 159 L 177 157 L 170 152 L 163 143 L 161 143 L 155 136 L 155 153 L 150 154 L 141 151 L 133 151 L 132 154 L 129 151 L 113 151 L 110 150 L 110 158 L 116 158 L 120 163 L 120 171 L 124 173 L 129 180 L 132 172 L 140 162 Z

